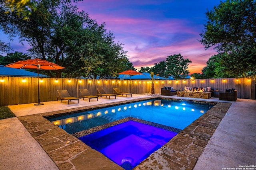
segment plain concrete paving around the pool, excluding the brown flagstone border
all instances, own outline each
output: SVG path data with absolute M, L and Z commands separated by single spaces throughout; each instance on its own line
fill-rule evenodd
M 133 95 L 132 99 L 144 97 L 147 96 Z M 172 96 L 172 98 L 177 97 Z M 45 102 L 42 106 L 24 104 L 10 106 L 10 108 L 16 116 L 22 116 L 129 99 L 120 97 L 116 100 L 108 100 L 102 98 L 99 99 L 99 102 L 92 100 L 90 103 L 80 100 L 79 104 L 76 102 L 71 102 L 70 105 L 63 103 L 61 108 L 60 101 Z M 187 99 L 191 100 L 191 98 Z M 218 98 L 210 100 L 225 102 Z M 240 165 L 256 164 L 256 100 L 238 99 L 231 103 L 228 113 L 205 147 L 194 170 L 222 170 L 222 168 L 240 168 Z M 58 169 L 16 117 L 0 120 L 0 146 L 1 170 Z

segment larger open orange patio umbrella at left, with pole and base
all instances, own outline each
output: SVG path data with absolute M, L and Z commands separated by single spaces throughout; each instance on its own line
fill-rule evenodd
M 34 104 L 36 106 L 43 105 L 42 103 L 40 103 L 40 98 L 39 98 L 39 70 L 60 70 L 65 68 L 65 67 L 59 66 L 58 64 L 51 63 L 49 61 L 41 60 L 38 58 L 18 61 L 16 63 L 11 63 L 6 66 L 12 67 L 12 68 L 37 69 L 38 103 Z

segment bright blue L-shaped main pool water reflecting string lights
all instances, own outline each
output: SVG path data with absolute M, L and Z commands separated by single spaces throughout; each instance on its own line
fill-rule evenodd
M 135 117 L 177 129 L 184 129 L 213 106 L 212 103 L 153 99 L 54 117 L 50 118 L 49 121 L 70 134 L 125 117 Z

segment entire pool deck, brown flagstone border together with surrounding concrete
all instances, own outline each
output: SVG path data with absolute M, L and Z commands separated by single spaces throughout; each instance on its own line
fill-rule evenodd
M 0 153 L 4 158 L 0 159 L 0 169 L 122 169 L 42 116 L 142 98 L 154 97 L 133 95 L 110 100 L 99 98 L 98 102 L 90 103 L 80 100 L 79 104 L 70 102 L 69 105 L 54 101 L 42 106 L 9 106 L 18 119 L 0 120 Z M 218 170 L 255 164 L 256 101 L 230 102 L 218 98 L 200 101 L 219 103 L 134 169 Z

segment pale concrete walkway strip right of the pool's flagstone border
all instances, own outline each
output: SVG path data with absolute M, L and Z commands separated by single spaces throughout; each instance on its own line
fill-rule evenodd
M 256 100 L 238 99 L 212 135 L 194 170 L 256 169 Z

